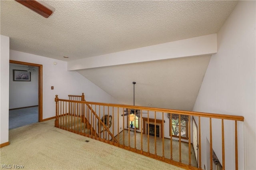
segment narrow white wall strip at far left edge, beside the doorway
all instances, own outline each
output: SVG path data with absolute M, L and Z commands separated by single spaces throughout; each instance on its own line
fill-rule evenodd
M 9 141 L 9 42 L 0 35 L 0 143 Z

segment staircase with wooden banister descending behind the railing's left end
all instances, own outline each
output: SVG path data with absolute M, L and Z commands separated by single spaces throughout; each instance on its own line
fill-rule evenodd
M 69 100 L 62 100 L 56 95 L 55 127 L 91 138 L 101 138 L 102 132 L 107 132 L 108 138 L 105 136 L 104 139 L 117 143 L 114 135 L 109 131 L 109 126 L 106 126 L 94 109 L 85 103 L 84 93 L 81 96 L 68 95 L 68 97 Z M 97 133 L 97 128 L 102 129 L 102 132 Z

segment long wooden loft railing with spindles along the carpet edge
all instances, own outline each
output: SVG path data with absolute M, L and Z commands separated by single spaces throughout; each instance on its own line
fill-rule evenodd
M 82 95 L 83 96 L 83 95 Z M 80 96 L 81 97 L 81 96 Z M 83 97 L 82 97 L 83 98 Z M 84 99 L 81 100 L 65 100 L 58 99 L 56 95 L 56 121 L 55 126 L 60 127 L 66 130 L 70 130 L 66 125 L 70 124 L 66 119 L 71 117 L 71 112 L 68 112 L 69 109 L 66 107 L 71 107 L 73 105 L 73 110 L 76 114 L 73 114 L 76 122 L 79 125 L 76 127 L 73 126 L 73 132 L 82 134 L 84 136 L 100 140 L 138 154 L 149 156 L 157 160 L 161 160 L 175 166 L 179 166 L 186 169 L 202 169 L 202 129 L 209 128 L 209 143 L 210 143 L 210 160 L 212 160 L 212 150 L 213 150 L 213 134 L 212 122 L 214 120 L 214 125 L 216 120 L 221 121 L 221 132 L 219 136 L 214 136 L 214 138 L 221 138 L 221 147 L 222 153 L 218 157 L 222 158 L 222 168 L 225 169 L 226 165 L 230 165 L 234 162 L 235 169 L 238 169 L 238 127 L 237 121 L 244 121 L 244 117 L 233 116 L 233 115 L 221 115 L 221 114 L 212 114 L 212 113 L 199 113 L 199 112 L 190 112 L 190 111 L 179 111 L 171 109 L 160 109 L 160 108 L 150 108 L 150 107 L 139 107 L 131 105 L 118 105 L 118 104 L 108 104 L 108 103 L 96 103 L 88 102 Z M 83 100 L 83 101 L 82 101 Z M 128 109 L 128 111 L 126 111 Z M 140 112 L 140 118 L 138 119 L 139 127 L 136 128 L 136 121 L 134 121 L 134 127 L 130 127 L 130 118 L 126 113 L 132 113 L 132 110 L 138 110 Z M 80 114 L 81 113 L 81 114 Z M 172 118 L 173 114 L 178 115 L 178 138 L 174 137 L 172 130 L 172 121 L 168 119 Z M 187 138 L 182 138 L 181 132 L 181 116 L 188 115 L 187 121 Z M 112 126 L 108 126 L 108 123 L 105 122 L 105 119 L 102 117 L 107 117 L 109 122 L 110 116 L 112 117 Z M 193 148 L 191 144 L 193 130 L 191 128 L 192 119 L 197 121 L 198 133 L 196 137 L 198 142 L 196 143 L 196 148 Z M 204 124 L 202 124 L 202 119 L 204 119 Z M 87 120 L 87 121 L 86 121 Z M 90 120 L 90 122 L 88 121 Z M 153 120 L 150 123 L 150 120 Z M 225 162 L 225 134 L 224 126 L 226 120 L 234 122 L 234 160 L 228 164 Z M 207 126 L 205 126 L 205 121 L 207 121 Z M 90 131 L 93 130 L 95 133 L 86 134 L 83 127 L 83 124 L 90 123 Z M 154 136 L 150 136 L 150 124 L 154 127 Z M 161 131 L 157 137 L 157 126 L 160 126 Z M 227 126 L 230 126 L 228 124 Z M 80 129 L 78 129 L 78 127 Z M 87 127 L 87 125 L 84 125 Z M 103 129 L 102 129 L 103 128 Z M 144 129 L 145 128 L 145 129 Z M 103 133 L 99 133 L 103 130 Z M 98 133 L 96 133 L 98 132 Z M 227 138 L 227 137 L 226 137 Z M 226 139 L 225 138 L 225 139 Z M 185 142 L 184 142 L 185 140 Z M 243 140 L 243 139 L 241 139 Z M 205 139 L 203 140 L 205 141 Z M 197 148 L 198 146 L 198 148 Z M 205 145 L 204 145 L 205 146 Z M 205 148 L 204 148 L 205 149 Z M 215 148 L 214 148 L 215 149 Z M 186 151 L 184 151 L 186 150 Z M 195 152 L 198 150 L 198 161 L 195 163 Z M 184 154 L 185 152 L 185 154 Z M 186 154 L 187 153 L 187 154 Z M 230 156 L 230 155 L 229 155 Z M 193 157 L 193 158 L 192 158 Z M 210 169 L 212 169 L 212 161 L 210 161 Z M 230 167 L 227 167 L 230 169 Z

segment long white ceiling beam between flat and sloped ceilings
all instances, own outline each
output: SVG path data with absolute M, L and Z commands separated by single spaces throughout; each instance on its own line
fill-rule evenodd
M 89 69 L 217 53 L 217 34 L 68 61 L 68 70 Z

